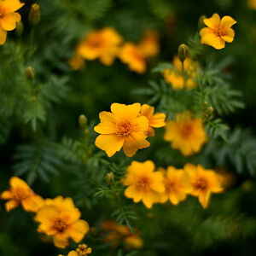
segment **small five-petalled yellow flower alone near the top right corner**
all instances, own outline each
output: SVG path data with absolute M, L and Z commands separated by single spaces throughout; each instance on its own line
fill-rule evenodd
M 225 42 L 233 42 L 235 32 L 230 27 L 236 24 L 236 20 L 230 16 L 224 16 L 220 20 L 220 17 L 214 14 L 211 18 L 203 21 L 208 27 L 204 27 L 200 31 L 201 44 L 211 45 L 215 49 L 223 49 Z

